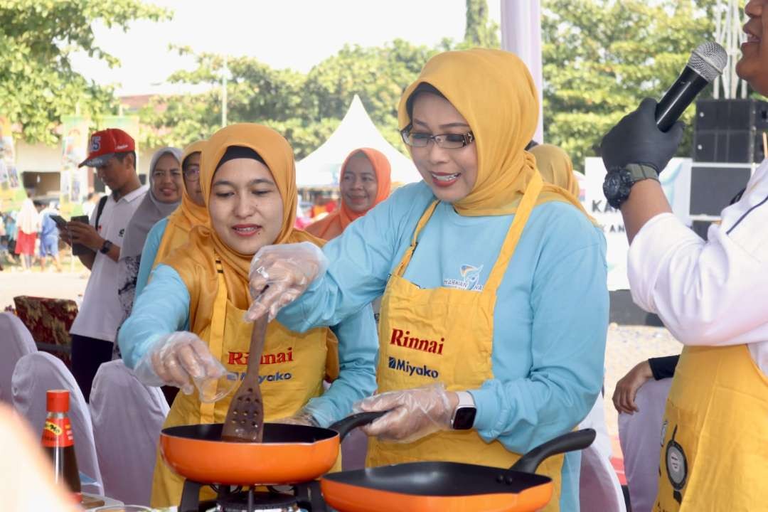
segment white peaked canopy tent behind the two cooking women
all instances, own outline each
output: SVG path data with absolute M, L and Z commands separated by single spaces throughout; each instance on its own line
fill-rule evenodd
M 382 137 L 355 94 L 336 131 L 296 163 L 296 185 L 299 188 L 338 187 L 341 164 L 352 150 L 359 147 L 372 147 L 387 157 L 392 166 L 392 183 L 413 183 L 422 179 L 413 162 Z

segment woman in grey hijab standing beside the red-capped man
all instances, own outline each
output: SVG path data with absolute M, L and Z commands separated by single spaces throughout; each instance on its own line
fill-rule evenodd
M 149 193 L 144 196 L 125 230 L 118 260 L 118 296 L 123 319 L 131 314 L 136 281 L 141 264 L 141 250 L 154 223 L 176 210 L 184 183 L 181 180 L 181 150 L 164 147 L 152 155 L 149 166 Z

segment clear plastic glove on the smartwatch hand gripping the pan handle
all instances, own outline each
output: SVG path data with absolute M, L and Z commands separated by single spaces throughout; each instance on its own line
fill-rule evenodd
M 458 404 L 455 393 L 442 383 L 424 388 L 389 391 L 358 402 L 356 412 L 389 411 L 361 430 L 382 441 L 410 443 L 425 435 L 451 428 L 453 410 Z

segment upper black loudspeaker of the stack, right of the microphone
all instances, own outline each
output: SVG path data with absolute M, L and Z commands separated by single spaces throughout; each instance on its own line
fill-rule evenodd
M 768 102 L 700 100 L 696 102 L 694 162 L 752 164 L 766 157 Z

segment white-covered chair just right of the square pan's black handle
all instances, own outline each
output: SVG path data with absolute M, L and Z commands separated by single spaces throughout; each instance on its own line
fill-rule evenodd
M 581 451 L 581 474 L 579 478 L 579 501 L 581 510 L 604 512 L 626 512 L 624 492 L 611 464 L 611 438 L 605 424 L 603 395 L 589 411 L 578 428 L 594 428 L 598 435 L 586 450 Z

